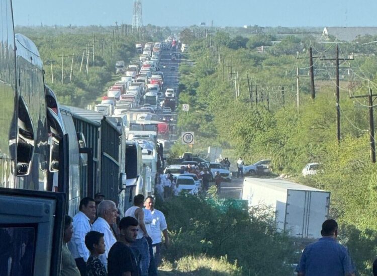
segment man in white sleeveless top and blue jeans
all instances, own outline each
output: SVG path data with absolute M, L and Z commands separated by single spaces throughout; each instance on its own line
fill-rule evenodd
M 144 206 L 144 196 L 137 195 L 134 197 L 134 206 L 127 209 L 126 213 L 124 214 L 126 217 L 133 217 L 138 221 L 139 224 L 139 232 L 137 234 L 137 238 L 135 242 L 133 242 L 130 246 L 131 248 L 137 249 L 141 256 L 140 261 L 140 270 L 142 276 L 148 275 L 148 267 L 150 262 L 149 257 L 149 246 L 147 238 L 149 234 L 145 227 L 145 215 L 143 211 Z M 138 258 L 138 256 L 136 256 Z

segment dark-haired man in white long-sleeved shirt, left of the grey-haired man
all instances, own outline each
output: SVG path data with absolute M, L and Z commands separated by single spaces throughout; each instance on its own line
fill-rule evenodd
M 81 276 L 86 276 L 85 263 L 89 258 L 89 251 L 85 246 L 85 235 L 90 231 L 90 221 L 96 218 L 96 202 L 92 198 L 83 198 L 78 206 L 80 210 L 73 217 L 73 236 L 68 243 Z

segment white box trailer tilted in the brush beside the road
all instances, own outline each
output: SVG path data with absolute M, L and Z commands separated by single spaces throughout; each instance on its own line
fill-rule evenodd
M 330 192 L 283 179 L 245 177 L 242 200 L 247 200 L 249 207 L 270 207 L 279 231 L 317 239 L 328 219 Z

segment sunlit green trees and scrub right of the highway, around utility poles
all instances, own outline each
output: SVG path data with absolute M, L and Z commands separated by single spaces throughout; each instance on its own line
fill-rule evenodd
M 315 100 L 310 97 L 308 77 L 300 77 L 299 108 L 296 92 L 296 64 L 300 75 L 308 74 L 308 48 L 313 47 L 316 56 L 331 58 L 335 44 L 317 43 L 310 36 L 235 36 L 219 31 L 211 33 L 209 40 L 200 33 L 183 34 L 181 39 L 190 43 L 188 55 L 195 65 L 180 68 L 179 103 L 190 104 L 190 112 L 178 117 L 179 129 L 195 130 L 198 151 L 220 146 L 231 154 L 233 163 L 241 155 L 247 163 L 270 158 L 275 174 L 330 191 L 330 216 L 341 225 L 340 240 L 349 247 L 358 272 L 370 274 L 377 255 L 377 169 L 369 158 L 366 98 L 349 96 L 367 95 L 368 87 L 375 89 L 377 58 L 372 53 L 377 46 L 362 45 L 375 38 L 360 37 L 355 43 L 339 44 L 341 58 L 352 52 L 358 55 L 354 61 L 342 62 L 349 69 L 340 71 L 338 145 L 334 64 L 314 61 Z M 256 47 L 262 45 L 269 47 L 260 53 Z M 298 53 L 301 59 L 296 59 Z M 253 83 L 252 103 L 247 76 Z M 179 150 L 176 146 L 173 153 Z M 301 170 L 309 162 L 319 162 L 321 169 L 317 175 L 304 178 Z

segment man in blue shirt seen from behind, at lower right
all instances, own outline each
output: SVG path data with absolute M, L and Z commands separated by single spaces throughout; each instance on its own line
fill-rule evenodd
M 298 276 L 355 276 L 355 268 L 347 248 L 337 242 L 338 224 L 326 220 L 322 238 L 305 247 L 296 267 Z

